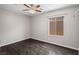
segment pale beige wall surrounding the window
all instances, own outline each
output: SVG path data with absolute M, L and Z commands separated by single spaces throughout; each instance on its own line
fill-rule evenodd
M 78 50 L 79 12 L 73 16 L 77 8 L 78 7 L 71 7 L 55 10 L 33 17 L 32 38 Z M 48 36 L 48 18 L 51 16 L 65 16 L 64 36 Z

